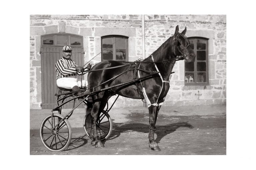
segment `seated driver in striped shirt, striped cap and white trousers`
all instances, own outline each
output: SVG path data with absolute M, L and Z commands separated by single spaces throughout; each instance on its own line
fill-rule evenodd
M 87 67 L 83 68 L 78 66 L 75 61 L 71 59 L 72 49 L 69 45 L 65 45 L 62 48 L 62 56 L 55 64 L 57 86 L 67 89 L 72 89 L 72 91 L 80 90 L 79 87 L 88 86 L 87 80 L 77 81 L 76 74 L 82 75 L 82 71 L 87 69 L 90 70 L 92 65 L 89 63 Z M 85 74 L 84 72 L 83 74 Z M 83 92 L 74 93 L 75 96 L 82 95 Z

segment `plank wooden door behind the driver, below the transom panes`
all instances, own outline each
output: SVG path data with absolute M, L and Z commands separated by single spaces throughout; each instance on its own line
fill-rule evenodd
M 42 109 L 54 109 L 57 107 L 55 93 L 58 93 L 56 85 L 55 64 L 62 57 L 62 47 L 41 47 L 42 70 Z M 77 65 L 83 66 L 83 48 L 72 47 L 71 59 Z M 76 104 L 78 101 L 76 100 Z M 73 101 L 65 104 L 63 108 L 72 108 Z M 84 104 L 78 106 L 84 108 Z

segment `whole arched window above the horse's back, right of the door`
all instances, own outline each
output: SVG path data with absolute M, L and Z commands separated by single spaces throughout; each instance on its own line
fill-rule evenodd
M 102 60 L 128 61 L 128 37 L 111 35 L 101 37 Z

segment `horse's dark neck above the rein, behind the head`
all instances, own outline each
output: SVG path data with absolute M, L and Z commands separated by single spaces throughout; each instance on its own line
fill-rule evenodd
M 172 36 L 173 37 L 173 36 Z M 171 55 L 170 47 L 172 45 L 172 37 L 168 38 L 160 47 L 157 48 L 151 55 L 154 56 L 154 61 L 162 61 L 166 55 Z M 144 59 L 144 61 L 150 61 L 151 55 Z

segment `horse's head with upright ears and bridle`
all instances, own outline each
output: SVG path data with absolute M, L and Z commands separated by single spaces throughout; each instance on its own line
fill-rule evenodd
M 191 48 L 188 38 L 185 36 L 187 31 L 187 27 L 179 33 L 179 26 L 176 26 L 175 33 L 173 36 L 172 41 L 174 46 L 174 54 L 176 56 L 182 56 L 188 62 L 195 61 L 195 53 L 194 50 Z

